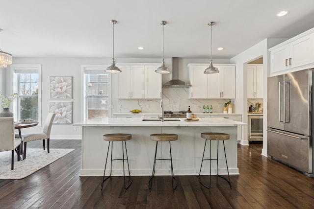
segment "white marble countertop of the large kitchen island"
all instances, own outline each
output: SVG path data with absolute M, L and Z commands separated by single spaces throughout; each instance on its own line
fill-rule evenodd
M 142 118 L 94 118 L 73 126 L 242 126 L 247 123 L 225 118 L 199 118 L 199 121 L 142 121 Z

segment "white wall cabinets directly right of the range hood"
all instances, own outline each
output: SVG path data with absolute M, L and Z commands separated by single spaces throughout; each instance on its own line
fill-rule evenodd
M 219 73 L 204 74 L 208 67 L 200 64 L 188 64 L 191 87 L 189 98 L 235 98 L 235 65 L 214 64 Z

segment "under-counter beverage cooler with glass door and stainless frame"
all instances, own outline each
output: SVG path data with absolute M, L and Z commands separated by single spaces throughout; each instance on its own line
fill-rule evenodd
M 263 140 L 263 116 L 248 115 L 248 140 L 262 141 Z

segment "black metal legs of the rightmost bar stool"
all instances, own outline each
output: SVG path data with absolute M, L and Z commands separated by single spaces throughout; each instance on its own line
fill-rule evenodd
M 223 176 L 220 176 L 218 174 L 218 150 L 219 150 L 219 140 L 217 140 L 217 158 L 216 159 L 211 159 L 211 140 L 209 140 L 209 159 L 204 159 L 204 154 L 205 154 L 205 149 L 206 149 L 206 143 L 207 143 L 207 139 L 205 139 L 205 146 L 204 146 L 204 152 L 203 152 L 203 158 L 202 158 L 202 163 L 201 163 L 201 168 L 200 168 L 200 173 L 198 175 L 198 180 L 201 183 L 201 185 L 210 188 L 211 186 L 211 161 L 217 161 L 217 167 L 216 167 L 216 173 L 217 176 L 226 180 L 229 183 L 229 186 L 231 188 L 231 182 L 230 182 L 230 175 L 229 175 L 229 169 L 228 169 L 228 163 L 227 163 L 227 156 L 226 156 L 226 149 L 225 149 L 225 141 L 223 140 L 222 143 L 224 145 L 224 152 L 225 152 L 225 159 L 226 159 L 226 165 L 227 165 L 227 172 L 228 172 L 228 179 L 226 179 Z M 208 161 L 209 160 L 209 186 L 205 185 L 202 181 L 201 181 L 201 171 L 202 171 L 202 165 L 203 165 L 203 161 Z

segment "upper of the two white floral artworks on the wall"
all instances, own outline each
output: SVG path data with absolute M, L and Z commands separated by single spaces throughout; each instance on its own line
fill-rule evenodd
M 51 76 L 50 98 L 51 99 L 72 98 L 72 77 Z

